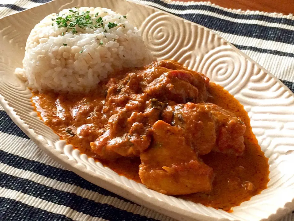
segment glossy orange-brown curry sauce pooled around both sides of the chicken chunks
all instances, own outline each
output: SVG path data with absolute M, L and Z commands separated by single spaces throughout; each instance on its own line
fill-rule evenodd
M 172 63 L 171 66 L 173 66 Z M 179 65 L 175 63 L 175 67 L 179 68 Z M 109 83 L 112 82 L 114 85 L 118 85 L 118 82 L 123 81 L 126 76 L 129 76 L 129 73 L 138 73 L 138 71 L 148 68 L 150 66 L 146 66 L 145 69 L 137 68 L 115 73 L 115 75 L 109 76 L 104 82 L 100 83 L 96 90 L 85 95 L 54 92 L 35 93 L 33 94 L 32 102 L 40 118 L 62 139 L 74 145 L 82 153 L 95 157 L 97 161 L 120 175 L 136 182 L 141 182 L 138 174 L 141 160 L 138 156 L 116 157 L 115 155 L 103 158 L 101 155 L 97 156 L 97 154 L 93 153 L 90 142 L 94 142 L 101 134 L 105 134 L 104 125 L 109 120 L 109 116 L 105 114 L 107 105 L 105 102 L 106 92 L 110 87 Z M 162 70 L 159 68 L 158 72 L 160 71 Z M 133 80 L 132 75 L 130 76 L 131 78 L 128 81 Z M 113 78 L 116 79 L 115 82 L 113 82 Z M 136 85 L 136 80 L 134 82 L 134 85 Z M 115 90 L 116 93 L 122 93 L 121 91 L 124 89 L 116 87 Z M 205 98 L 205 102 L 216 104 L 232 112 L 246 125 L 244 133 L 245 149 L 243 154 L 226 154 L 221 153 L 221 151 L 199 154 L 201 155 L 199 156 L 200 159 L 213 169 L 212 190 L 186 195 L 177 194 L 177 197 L 230 212 L 232 207 L 240 205 L 243 201 L 250 200 L 252 196 L 259 194 L 267 187 L 269 181 L 268 159 L 264 156 L 252 133 L 250 119 L 243 106 L 228 91 L 215 83 L 210 82 L 206 90 L 209 96 Z M 175 99 L 178 98 L 176 97 Z M 191 102 L 197 103 L 195 100 Z M 183 102 L 178 101 L 176 103 Z M 176 103 L 167 102 L 168 105 L 175 105 Z M 161 108 L 164 107 L 162 106 Z M 93 113 L 94 109 L 95 114 L 93 116 L 91 113 Z M 150 116 L 150 118 L 152 117 Z M 94 130 L 93 126 L 90 128 L 93 123 L 95 125 Z M 156 183 L 156 180 L 154 182 Z

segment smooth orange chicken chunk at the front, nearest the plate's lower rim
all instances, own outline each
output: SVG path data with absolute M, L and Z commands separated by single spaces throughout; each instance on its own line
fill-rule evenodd
M 152 145 L 140 154 L 142 183 L 167 195 L 210 191 L 213 170 L 186 144 L 183 130 L 162 120 L 152 129 Z

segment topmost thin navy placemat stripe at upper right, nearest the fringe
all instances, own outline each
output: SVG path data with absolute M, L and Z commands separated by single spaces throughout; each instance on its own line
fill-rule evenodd
M 212 6 L 207 5 L 190 5 L 190 6 L 184 6 L 184 5 L 174 5 L 174 4 L 168 4 L 163 1 L 158 0 L 147 0 L 149 2 L 157 3 L 163 7 L 174 9 L 174 10 L 204 10 L 204 11 L 210 11 L 213 13 L 217 13 L 220 15 L 237 18 L 237 19 L 246 19 L 246 20 L 259 20 L 259 21 L 267 21 L 272 23 L 281 23 L 286 25 L 294 25 L 294 21 L 292 19 L 288 18 L 277 18 L 277 17 L 270 17 L 266 15 L 249 15 L 249 14 L 235 14 L 232 12 L 224 11 Z

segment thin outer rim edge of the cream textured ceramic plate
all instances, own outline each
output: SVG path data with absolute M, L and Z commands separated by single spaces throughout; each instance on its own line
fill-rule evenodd
M 55 0 L 55 1 L 62 2 L 61 0 Z M 40 6 L 43 6 L 43 5 L 46 5 L 46 4 L 50 4 L 50 3 L 53 3 L 55 1 L 53 0 L 53 1 L 50 1 L 50 2 L 46 2 L 45 4 L 42 4 L 42 5 L 39 5 L 39 6 L 35 6 L 35 7 L 32 7 L 32 8 L 40 7 Z M 267 71 L 261 65 L 259 65 L 257 62 L 255 62 L 253 59 L 251 59 L 245 53 L 243 53 L 242 51 L 240 51 L 234 45 L 232 45 L 231 43 L 229 43 L 228 41 L 226 41 L 224 38 L 220 37 L 217 33 L 214 33 L 212 30 L 210 30 L 210 29 L 208 29 L 208 28 L 206 28 L 206 27 L 204 27 L 202 25 L 198 25 L 197 23 L 188 21 L 188 20 L 183 19 L 181 17 L 178 17 L 176 15 L 173 15 L 173 14 L 170 14 L 168 12 L 165 12 L 163 10 L 157 9 L 155 7 L 144 5 L 142 3 L 135 2 L 134 0 L 125 0 L 125 1 L 131 2 L 131 3 L 134 3 L 134 4 L 137 4 L 137 5 L 141 5 L 141 6 L 150 8 L 150 9 L 153 9 L 153 10 L 155 10 L 157 12 L 164 13 L 164 14 L 166 14 L 168 16 L 171 16 L 171 17 L 176 18 L 176 19 L 180 19 L 180 20 L 182 20 L 184 22 L 188 22 L 188 23 L 190 23 L 192 25 L 201 27 L 201 28 L 209 31 L 211 34 L 213 34 L 213 35 L 217 36 L 218 38 L 220 38 L 225 44 L 230 45 L 232 47 L 232 49 L 235 52 L 237 52 L 240 56 L 245 57 L 251 63 L 253 63 L 254 65 L 256 65 L 264 73 L 266 73 L 268 76 L 270 76 L 271 79 L 274 79 L 275 82 L 279 83 L 279 85 L 283 86 L 284 89 L 286 89 L 292 96 L 294 96 L 293 92 L 288 87 L 286 87 L 286 85 L 283 84 L 278 78 L 276 78 L 275 76 L 273 76 L 273 74 L 271 74 L 269 71 Z M 32 8 L 23 10 L 23 11 L 18 12 L 18 13 L 23 13 L 23 12 L 25 12 L 27 10 L 31 10 Z M 15 13 L 15 14 L 18 14 L 18 13 Z M 8 16 L 5 16 L 5 17 L 10 17 L 10 16 L 13 16 L 15 14 L 11 14 L 11 15 L 8 15 Z M 3 17 L 3 18 L 5 18 L 5 17 Z M 54 160 L 56 160 L 58 163 L 60 163 L 61 165 L 65 166 L 66 168 L 69 168 L 71 171 L 73 171 L 74 173 L 78 174 L 79 176 L 81 176 L 85 180 L 91 180 L 89 182 L 92 182 L 92 183 L 94 183 L 94 184 L 96 184 L 98 186 L 101 186 L 102 188 L 105 188 L 107 190 L 111 189 L 110 190 L 111 192 L 114 192 L 113 189 L 115 189 L 115 188 L 112 188 L 112 186 L 113 187 L 116 187 L 116 188 L 119 188 L 120 190 L 123 190 L 123 193 L 116 193 L 115 192 L 116 194 L 122 195 L 124 198 L 126 198 L 128 200 L 131 200 L 134 203 L 139 204 L 139 205 L 142 205 L 141 202 L 143 201 L 144 202 L 144 204 L 143 204 L 144 207 L 148 207 L 150 209 L 153 209 L 154 211 L 157 211 L 159 213 L 165 214 L 167 216 L 171 216 L 172 215 L 172 217 L 175 218 L 175 219 L 187 220 L 187 218 L 188 218 L 189 220 L 195 220 L 195 218 L 197 218 L 197 219 L 199 218 L 199 219 L 202 219 L 202 220 L 205 220 L 205 221 L 206 220 L 218 220 L 218 221 L 220 221 L 220 220 L 228 220 L 226 218 L 221 218 L 220 219 L 220 218 L 217 218 L 217 217 L 211 217 L 211 216 L 206 216 L 206 215 L 194 213 L 194 212 L 191 212 L 191 211 L 187 211 L 187 210 L 182 209 L 180 207 L 171 205 L 171 204 L 169 204 L 167 202 L 160 201 L 160 200 L 156 199 L 154 196 L 149 196 L 148 194 L 146 194 L 144 192 L 141 192 L 140 193 L 137 190 L 135 190 L 134 188 L 130 188 L 130 187 L 126 186 L 126 185 L 123 185 L 123 184 L 119 183 L 116 180 L 113 180 L 111 178 L 108 178 L 108 177 L 106 177 L 106 176 L 104 176 L 102 174 L 95 173 L 95 172 L 87 169 L 83 165 L 79 165 L 77 163 L 77 161 L 70 160 L 65 154 L 62 154 L 57 149 L 49 146 L 44 141 L 44 139 L 41 139 L 40 138 L 41 137 L 40 135 L 36 134 L 32 129 L 30 129 L 28 127 L 28 125 L 25 123 L 25 121 L 21 120 L 20 116 L 17 115 L 17 113 L 13 110 L 13 107 L 10 107 L 8 103 L 9 102 L 5 100 L 5 97 L 0 94 L 0 104 L 4 108 L 4 110 L 6 111 L 6 113 L 9 115 L 9 117 L 13 120 L 13 122 L 16 123 L 17 126 L 20 127 L 21 130 L 24 131 L 25 134 L 27 134 L 28 137 L 33 142 L 35 142 L 38 145 L 38 147 L 40 147 L 47 155 L 49 155 L 51 158 L 53 158 Z M 90 158 L 90 157 L 88 157 L 88 158 Z M 98 181 L 102 181 L 102 183 L 93 182 L 93 180 L 95 180 L 95 179 L 89 179 L 88 177 L 95 178 L 96 180 L 99 179 Z M 115 183 L 113 183 L 113 181 Z M 110 186 L 111 186 L 111 188 L 109 188 Z M 145 196 L 141 196 L 141 194 L 143 194 Z M 140 202 L 138 202 L 139 200 L 140 200 Z M 154 200 L 156 202 L 154 202 Z M 294 209 L 294 196 L 293 196 L 292 202 L 288 201 L 288 202 L 285 203 L 285 205 L 284 205 L 283 208 L 279 208 L 278 209 L 278 210 L 280 210 L 278 217 L 281 217 L 282 215 L 287 214 L 289 211 L 291 211 L 289 209 L 289 207 L 291 207 L 292 209 Z M 179 210 L 181 211 L 181 214 L 179 214 Z M 277 215 L 278 210 L 275 213 L 270 214 L 267 218 L 262 219 L 262 220 L 272 220 L 272 219 L 274 219 L 273 216 Z M 195 217 L 195 214 L 197 214 L 198 217 Z M 237 219 L 231 219 L 231 220 L 237 221 Z

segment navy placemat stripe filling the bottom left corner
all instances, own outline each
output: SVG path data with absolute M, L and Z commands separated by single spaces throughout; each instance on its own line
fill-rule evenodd
M 51 213 L 3 197 L 0 197 L 0 205 L 0 220 L 2 221 L 72 221 L 65 215 Z

